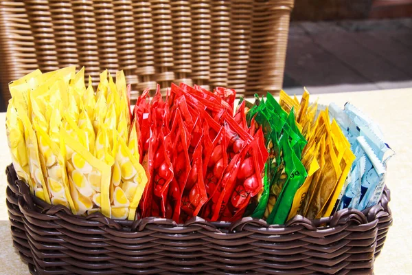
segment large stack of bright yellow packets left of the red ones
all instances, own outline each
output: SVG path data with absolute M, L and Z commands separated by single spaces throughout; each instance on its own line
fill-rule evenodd
M 6 129 L 19 179 L 36 197 L 73 214 L 135 219 L 147 176 L 126 80 L 100 74 L 96 93 L 84 68 L 36 70 L 9 85 Z

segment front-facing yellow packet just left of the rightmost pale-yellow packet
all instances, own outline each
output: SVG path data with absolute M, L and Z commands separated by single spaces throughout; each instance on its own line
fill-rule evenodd
M 64 127 L 60 136 L 64 144 L 73 212 L 91 214 L 101 211 L 106 217 L 110 217 L 110 201 L 102 198 L 102 190 L 110 184 L 113 163 L 102 162 L 94 157 Z

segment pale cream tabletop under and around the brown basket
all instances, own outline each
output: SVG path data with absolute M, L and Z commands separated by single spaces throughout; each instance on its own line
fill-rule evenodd
M 317 95 L 312 96 L 312 100 Z M 387 143 L 396 151 L 389 161 L 387 186 L 391 189 L 393 226 L 385 247 L 375 262 L 375 274 L 412 274 L 412 88 L 380 91 L 361 91 L 339 94 L 321 94 L 319 102 L 336 102 L 343 107 L 350 101 L 363 110 L 385 133 Z M 0 167 L 10 164 L 5 136 L 5 113 L 0 113 Z M 411 176 L 411 177 L 410 177 Z M 12 248 L 7 208 L 5 206 L 6 177 L 0 173 L 0 274 L 28 274 Z M 411 197 L 410 197 L 411 196 Z

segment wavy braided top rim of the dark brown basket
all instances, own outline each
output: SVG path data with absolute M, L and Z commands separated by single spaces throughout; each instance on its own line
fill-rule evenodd
M 388 206 L 390 191 L 386 185 L 380 202 L 376 206 L 366 208 L 363 211 L 345 208 L 335 212 L 330 217 L 313 220 L 297 215 L 284 225 L 270 225 L 263 219 L 252 217 L 243 217 L 234 222 L 206 221 L 201 217 L 192 217 L 192 219 L 187 220 L 183 224 L 176 223 L 172 219 L 159 217 L 146 217 L 135 221 L 111 219 L 104 217 L 100 212 L 83 217 L 73 214 L 65 206 L 50 205 L 30 194 L 27 184 L 17 179 L 13 164 L 7 166 L 5 173 L 8 179 L 6 197 L 8 201 L 16 201 L 12 195 L 18 197 L 17 203 L 19 208 L 27 218 L 32 217 L 45 222 L 60 219 L 67 223 L 78 225 L 79 228 L 96 228 L 106 225 L 108 228 L 105 230 L 115 230 L 117 234 L 122 232 L 124 237 L 135 232 L 142 232 L 145 228 L 150 228 L 153 225 L 156 225 L 158 230 L 163 228 L 165 233 L 173 232 L 176 234 L 192 232 L 193 227 L 200 227 L 211 233 L 218 234 L 239 234 L 243 229 L 247 229 L 247 232 L 258 232 L 261 234 L 288 234 L 306 228 L 307 232 L 310 232 L 310 236 L 319 237 L 336 234 L 336 232 L 343 231 L 349 226 L 351 226 L 352 230 L 356 227 L 356 231 L 366 231 L 374 228 L 378 222 L 391 219 L 391 210 Z M 87 229 L 85 230 L 87 231 Z M 84 233 L 95 234 L 95 232 Z

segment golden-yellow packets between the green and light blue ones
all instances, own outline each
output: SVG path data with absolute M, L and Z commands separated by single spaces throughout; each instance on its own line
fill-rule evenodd
M 335 120 L 330 122 L 328 109 L 317 114 L 317 103 L 308 102 L 306 89 L 300 103 L 281 91 L 279 104 L 287 112 L 295 111 L 297 124 L 308 140 L 301 155 L 308 177 L 295 194 L 288 219 L 296 214 L 308 219 L 329 217 L 355 159 L 339 125 Z

